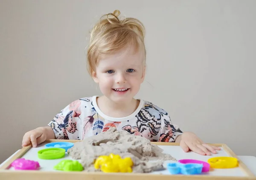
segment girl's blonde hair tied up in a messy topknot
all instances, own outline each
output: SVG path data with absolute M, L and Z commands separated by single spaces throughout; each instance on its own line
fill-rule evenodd
M 143 23 L 135 18 L 119 19 L 120 11 L 103 15 L 90 34 L 90 44 L 87 50 L 87 68 L 90 75 L 97 66 L 99 58 L 123 48 L 133 47 L 144 51 L 146 56 Z

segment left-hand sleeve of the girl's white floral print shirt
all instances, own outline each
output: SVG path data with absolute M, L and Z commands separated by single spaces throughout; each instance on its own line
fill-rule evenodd
M 48 126 L 54 131 L 56 139 L 79 139 L 76 121 L 79 118 L 80 104 L 77 104 L 76 101 L 70 103 L 49 122 Z

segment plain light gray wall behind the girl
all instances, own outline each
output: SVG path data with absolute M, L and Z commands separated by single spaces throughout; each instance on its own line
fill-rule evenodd
M 0 162 L 25 132 L 81 97 L 93 24 L 119 9 L 146 27 L 147 75 L 137 98 L 183 131 L 256 156 L 255 0 L 0 0 Z

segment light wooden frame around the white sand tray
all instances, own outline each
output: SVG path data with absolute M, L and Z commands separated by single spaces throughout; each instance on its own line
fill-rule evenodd
M 72 142 L 76 143 L 79 140 L 47 140 L 50 142 Z M 161 146 L 179 146 L 179 143 L 162 143 L 152 142 L 152 144 Z M 256 176 L 251 172 L 247 166 L 236 156 L 236 154 L 226 144 L 212 144 L 214 146 L 222 147 L 228 155 L 237 158 L 239 161 L 239 168 L 244 172 L 244 177 L 234 176 L 209 176 L 209 175 L 166 175 L 166 174 L 146 174 L 146 173 L 102 173 L 102 172 L 42 172 L 42 171 L 10 171 L 11 163 L 22 157 L 32 145 L 20 149 L 10 160 L 0 167 L 0 180 L 256 180 Z

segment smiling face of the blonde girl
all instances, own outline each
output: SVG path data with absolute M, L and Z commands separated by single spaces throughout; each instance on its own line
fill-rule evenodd
M 133 48 L 128 48 L 104 56 L 99 60 L 92 76 L 108 99 L 115 103 L 129 102 L 144 81 L 144 54 L 142 51 L 134 53 Z

